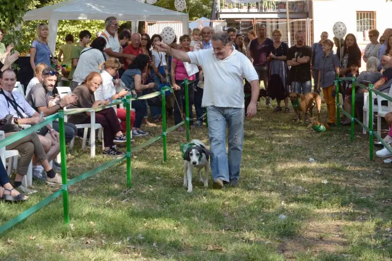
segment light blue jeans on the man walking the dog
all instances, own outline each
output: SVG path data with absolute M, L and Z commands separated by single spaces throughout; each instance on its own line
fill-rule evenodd
M 229 182 L 238 180 L 244 141 L 244 108 L 207 107 L 210 136 L 211 172 L 213 179 Z M 226 122 L 228 129 L 229 157 L 226 155 Z

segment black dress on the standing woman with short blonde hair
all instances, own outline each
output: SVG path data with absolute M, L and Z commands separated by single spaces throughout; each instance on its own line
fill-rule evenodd
M 286 43 L 281 43 L 278 48 L 275 49 L 273 45 L 270 46 L 269 53 L 273 53 L 276 57 L 286 56 L 289 46 Z M 286 61 L 271 60 L 270 61 L 270 72 L 268 81 L 268 96 L 271 99 L 283 100 L 289 95 L 289 83 L 288 77 L 289 67 Z

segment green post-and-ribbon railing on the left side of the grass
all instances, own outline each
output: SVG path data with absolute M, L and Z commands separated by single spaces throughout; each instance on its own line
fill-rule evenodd
M 52 193 L 45 199 L 41 200 L 34 206 L 28 208 L 25 210 L 23 213 L 15 216 L 11 220 L 7 221 L 6 223 L 2 224 L 0 226 L 0 234 L 6 231 L 7 229 L 15 226 L 17 223 L 21 222 L 24 220 L 26 217 L 34 214 L 36 211 L 39 209 L 45 207 L 48 205 L 50 202 L 55 200 L 57 197 L 60 195 L 63 195 L 63 210 L 64 210 L 64 222 L 69 223 L 70 222 L 70 212 L 69 212 L 69 190 L 68 187 L 72 186 L 73 184 L 82 181 L 86 178 L 89 178 L 93 175 L 96 175 L 102 170 L 105 170 L 111 166 L 114 166 L 115 164 L 121 163 L 124 159 L 126 159 L 126 186 L 128 188 L 131 187 L 132 182 L 131 182 L 131 153 L 136 152 L 153 142 L 159 141 L 161 138 L 163 140 L 163 160 L 166 162 L 167 161 L 167 140 L 166 136 L 169 132 L 175 130 L 179 126 L 183 125 L 184 123 L 186 124 L 186 137 L 187 137 L 187 142 L 190 141 L 190 133 L 189 133 L 189 98 L 188 98 L 188 79 L 185 79 L 184 82 L 185 84 L 185 108 L 186 108 L 186 119 L 181 121 L 175 126 L 172 126 L 171 128 L 166 128 L 166 92 L 172 92 L 172 88 L 169 85 L 164 86 L 160 92 L 155 92 L 153 94 L 149 94 L 148 97 L 147 95 L 134 98 L 131 95 L 126 96 L 122 100 L 115 100 L 114 102 L 99 106 L 98 108 L 95 108 L 94 111 L 100 111 L 106 108 L 110 108 L 111 106 L 118 105 L 123 103 L 124 107 L 126 109 L 126 154 L 122 157 L 116 158 L 112 161 L 109 161 L 101 166 L 98 166 L 95 169 L 92 169 L 90 171 L 87 171 L 77 177 L 74 177 L 71 180 L 68 180 L 68 173 L 67 173 L 67 154 L 66 154 L 66 144 L 65 144 L 65 132 L 64 132 L 64 116 L 66 115 L 72 115 L 75 113 L 81 113 L 81 112 L 87 112 L 91 111 L 91 108 L 83 108 L 83 109 L 77 109 L 77 110 L 72 110 L 72 111 L 59 111 L 56 114 L 50 115 L 46 117 L 46 119 L 38 124 L 35 124 L 25 130 L 22 130 L 12 136 L 9 136 L 8 138 L 1 140 L 0 141 L 0 147 L 5 147 L 27 135 L 30 135 L 31 133 L 39 130 L 40 128 L 46 126 L 53 120 L 59 119 L 59 128 L 60 128 L 60 155 L 61 155 L 61 176 L 62 176 L 62 188 L 60 190 L 57 190 L 56 192 Z M 146 98 L 152 98 L 161 95 L 162 97 L 162 134 L 159 136 L 152 138 L 148 140 L 147 142 L 144 142 L 136 147 L 131 148 L 131 121 L 130 121 L 130 111 L 131 111 L 131 102 L 132 100 L 136 99 L 146 99 Z

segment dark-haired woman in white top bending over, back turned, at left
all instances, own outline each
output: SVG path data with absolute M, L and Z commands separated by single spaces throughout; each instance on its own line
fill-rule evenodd
M 106 55 L 103 53 L 105 45 L 105 38 L 98 37 L 91 43 L 90 47 L 86 47 L 82 50 L 75 72 L 73 73 L 72 91 L 79 83 L 84 81 L 90 72 L 100 72 L 98 68 L 99 65 L 106 61 Z

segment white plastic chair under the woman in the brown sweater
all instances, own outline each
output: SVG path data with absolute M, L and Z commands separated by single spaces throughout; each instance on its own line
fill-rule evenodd
M 60 95 L 60 98 L 63 98 L 65 95 L 72 94 L 70 87 L 57 87 L 57 91 L 58 91 L 58 94 Z M 64 110 L 70 111 L 73 109 L 64 108 Z M 77 110 L 77 109 L 74 109 L 74 110 Z M 95 122 L 94 109 L 91 109 L 89 112 L 90 112 L 91 123 L 75 124 L 75 126 L 78 129 L 84 129 L 82 149 L 84 149 L 86 147 L 88 129 L 91 128 L 89 144 L 90 144 L 90 148 L 91 148 L 90 156 L 93 158 L 93 157 L 95 157 L 95 130 L 98 129 L 98 139 L 101 139 L 101 137 L 103 136 L 103 131 L 102 131 L 103 128 L 102 128 L 101 124 Z M 66 116 L 64 116 L 64 121 L 67 121 Z M 71 141 L 71 147 L 73 147 L 74 140 L 75 140 L 75 138 L 73 138 L 73 140 Z M 104 144 L 103 144 L 103 140 L 102 140 L 102 150 L 103 149 L 104 149 Z

